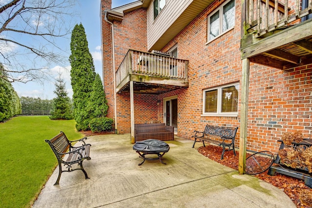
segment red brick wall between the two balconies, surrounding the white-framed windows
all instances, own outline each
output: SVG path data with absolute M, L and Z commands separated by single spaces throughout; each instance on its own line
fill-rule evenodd
M 206 44 L 207 15 L 223 2 L 215 1 L 211 4 L 163 49 L 167 51 L 177 44 L 178 58 L 189 60 L 189 88 L 176 94 L 178 136 L 184 138 L 190 139 L 194 130 L 203 131 L 206 124 L 240 125 L 238 117 L 201 116 L 203 89 L 239 82 L 241 77 L 240 17 L 236 15 L 233 30 Z M 240 12 L 240 2 L 236 1 L 235 10 L 236 14 Z M 239 131 L 236 144 L 238 138 Z

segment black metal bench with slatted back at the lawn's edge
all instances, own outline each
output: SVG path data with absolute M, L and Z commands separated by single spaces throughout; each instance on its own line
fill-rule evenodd
M 65 133 L 60 132 L 58 135 L 56 135 L 52 139 L 45 140 L 45 142 L 47 142 L 50 145 L 52 151 L 54 152 L 59 162 L 59 177 L 54 185 L 59 185 L 59 179 L 60 179 L 60 175 L 62 174 L 62 172 L 82 170 L 85 178 L 89 179 L 87 172 L 83 169 L 83 166 L 82 166 L 83 160 L 91 159 L 91 157 L 89 156 L 91 144 L 86 144 L 84 142 L 85 139 L 87 139 L 87 137 L 84 137 L 82 139 L 75 140 L 75 141 L 69 141 Z M 79 141 L 83 142 L 82 146 L 79 146 L 79 147 L 72 146 L 73 142 L 79 142 Z M 67 155 L 67 158 L 66 160 L 63 160 L 63 157 L 65 155 Z M 65 169 L 67 170 L 62 170 L 62 164 L 64 164 Z M 73 169 L 72 167 L 73 164 L 80 165 L 80 168 Z

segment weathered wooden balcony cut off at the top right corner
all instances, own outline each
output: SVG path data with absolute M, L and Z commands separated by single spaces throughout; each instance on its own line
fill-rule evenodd
M 312 63 L 312 0 L 246 0 L 242 8 L 242 59 L 282 70 Z

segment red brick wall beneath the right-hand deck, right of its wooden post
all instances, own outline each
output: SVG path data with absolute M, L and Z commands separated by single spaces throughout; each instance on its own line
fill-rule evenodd
M 247 148 L 277 150 L 284 132 L 312 135 L 312 65 L 287 71 L 254 65 L 250 70 Z

